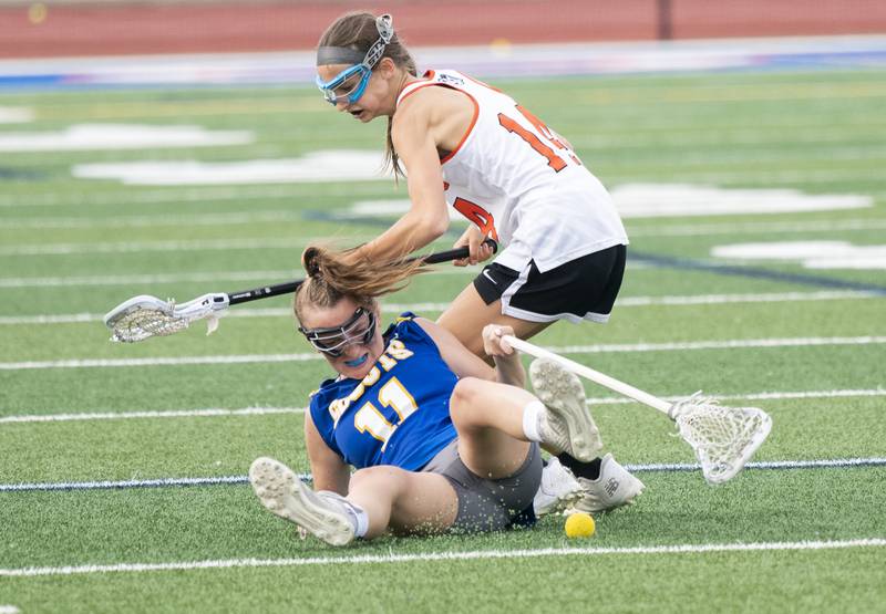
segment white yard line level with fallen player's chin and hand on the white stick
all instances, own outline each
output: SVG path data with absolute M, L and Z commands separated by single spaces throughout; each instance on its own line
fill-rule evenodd
M 558 354 L 615 354 L 625 352 L 682 352 L 690 350 L 739 350 L 760 347 L 808 347 L 827 345 L 879 345 L 886 336 L 733 339 L 672 343 L 597 344 L 548 346 Z M 166 356 L 155 358 L 86 358 L 66 361 L 25 361 L 0 363 L 0 371 L 39 368 L 92 368 L 127 366 L 217 365 L 248 363 L 289 363 L 323 360 L 316 353 L 303 354 L 233 354 L 222 356 Z

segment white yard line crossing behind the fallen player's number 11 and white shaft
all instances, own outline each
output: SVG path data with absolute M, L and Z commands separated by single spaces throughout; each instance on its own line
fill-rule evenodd
M 805 391 L 805 392 L 766 392 L 745 395 L 717 395 L 720 399 L 731 400 L 779 400 L 793 398 L 852 398 L 852 397 L 877 397 L 886 396 L 886 388 L 869 389 L 844 389 L 844 391 Z M 661 397 L 664 400 L 677 402 L 682 396 Z M 595 397 L 588 398 L 587 404 L 591 407 L 598 405 L 626 405 L 636 403 L 626 397 Z M 125 420 L 125 419 L 155 419 L 155 418 L 215 418 L 230 416 L 268 416 L 279 414 L 303 414 L 306 407 L 245 407 L 241 409 L 155 409 L 140 412 L 89 412 L 83 414 L 25 414 L 19 416 L 0 417 L 0 424 L 24 424 L 24 423 L 66 423 L 81 420 Z

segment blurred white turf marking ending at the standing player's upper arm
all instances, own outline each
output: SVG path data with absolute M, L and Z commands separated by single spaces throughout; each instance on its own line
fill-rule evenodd
M 328 149 L 300 158 L 244 162 L 133 162 L 81 164 L 81 179 L 117 179 L 134 186 L 307 184 L 391 180 L 377 150 Z

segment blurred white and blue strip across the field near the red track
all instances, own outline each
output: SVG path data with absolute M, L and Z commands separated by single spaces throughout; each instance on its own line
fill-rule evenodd
M 415 48 L 421 70 L 482 79 L 886 69 L 886 37 Z M 310 85 L 311 51 L 0 61 L 0 91 Z

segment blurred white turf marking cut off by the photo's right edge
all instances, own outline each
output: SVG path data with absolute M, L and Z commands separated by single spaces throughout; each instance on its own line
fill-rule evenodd
M 854 246 L 846 241 L 783 241 L 735 243 L 711 250 L 733 260 L 796 260 L 806 269 L 886 269 L 886 246 Z

